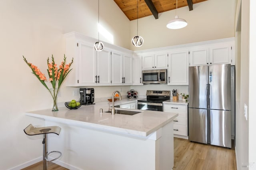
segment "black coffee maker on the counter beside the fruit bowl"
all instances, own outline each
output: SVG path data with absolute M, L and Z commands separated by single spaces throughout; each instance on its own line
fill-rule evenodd
M 93 105 L 94 102 L 94 89 L 81 88 L 80 89 L 80 103 L 81 105 Z

